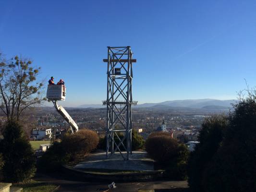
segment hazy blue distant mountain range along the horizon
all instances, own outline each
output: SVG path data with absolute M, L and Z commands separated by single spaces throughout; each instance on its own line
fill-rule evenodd
M 228 109 L 232 103 L 236 100 L 218 100 L 218 99 L 186 99 L 186 100 L 174 100 L 164 101 L 161 103 L 144 103 L 137 105 L 136 108 L 203 108 L 203 109 Z M 81 105 L 79 108 L 104 108 L 102 105 Z

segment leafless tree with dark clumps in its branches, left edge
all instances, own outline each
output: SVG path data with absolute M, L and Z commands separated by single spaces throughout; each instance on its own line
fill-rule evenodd
M 43 82 L 37 81 L 39 68 L 32 61 L 15 56 L 6 60 L 0 54 L 0 109 L 8 120 L 19 120 L 21 114 L 43 100 Z

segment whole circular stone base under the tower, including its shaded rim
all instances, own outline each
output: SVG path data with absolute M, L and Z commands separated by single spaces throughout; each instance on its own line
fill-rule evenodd
M 124 157 L 126 153 L 122 154 Z M 144 151 L 135 151 L 129 160 L 124 160 L 120 153 L 94 153 L 84 162 L 75 166 L 64 166 L 63 170 L 80 180 L 145 181 L 156 180 L 163 175 L 163 170 L 154 170 L 154 160 Z

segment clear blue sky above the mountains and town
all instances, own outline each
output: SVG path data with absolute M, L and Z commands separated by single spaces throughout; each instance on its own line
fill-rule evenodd
M 256 85 L 256 0 L 0 0 L 0 50 L 63 78 L 64 106 L 106 99 L 107 46 L 131 46 L 139 103 L 233 99 Z

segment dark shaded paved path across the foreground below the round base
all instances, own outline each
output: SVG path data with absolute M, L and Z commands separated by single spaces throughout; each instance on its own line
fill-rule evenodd
M 60 175 L 58 175 L 60 176 Z M 70 178 L 72 179 L 72 178 Z M 104 192 L 110 182 L 80 182 L 60 177 L 37 175 L 35 180 L 60 185 L 57 192 Z M 187 181 L 150 181 L 116 183 L 117 188 L 109 192 L 185 192 Z

